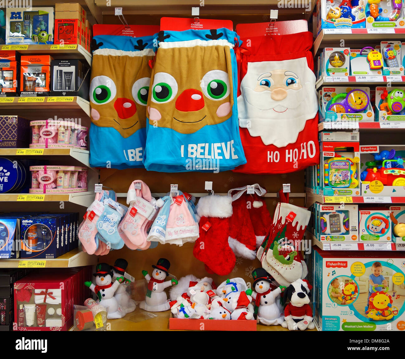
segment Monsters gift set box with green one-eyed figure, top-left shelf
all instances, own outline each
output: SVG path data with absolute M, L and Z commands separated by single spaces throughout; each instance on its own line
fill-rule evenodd
M 6 44 L 53 44 L 53 7 L 6 8 Z

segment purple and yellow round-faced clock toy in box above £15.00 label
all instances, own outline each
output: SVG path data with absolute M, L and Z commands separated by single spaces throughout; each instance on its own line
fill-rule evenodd
M 364 111 L 369 106 L 369 103 L 370 100 L 367 93 L 363 90 L 354 89 L 349 93 L 339 93 L 336 95 L 332 99 L 328 111 L 334 111 L 336 113 L 355 113 Z

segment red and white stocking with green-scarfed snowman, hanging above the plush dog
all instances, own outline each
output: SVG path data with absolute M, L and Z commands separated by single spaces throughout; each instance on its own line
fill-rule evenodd
M 288 202 L 288 196 L 284 197 L 282 192 L 280 198 Z M 288 286 L 307 276 L 300 244 L 310 217 L 306 208 L 285 202 L 277 204 L 273 225 L 257 251 L 257 258 L 279 285 Z

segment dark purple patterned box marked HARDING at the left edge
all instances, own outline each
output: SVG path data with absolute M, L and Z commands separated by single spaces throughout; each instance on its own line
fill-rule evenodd
M 30 143 L 30 121 L 17 116 L 0 116 L 0 148 L 26 148 Z

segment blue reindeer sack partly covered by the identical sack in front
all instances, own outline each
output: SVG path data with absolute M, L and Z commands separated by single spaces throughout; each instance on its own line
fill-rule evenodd
M 153 36 L 93 38 L 90 165 L 143 167 Z

